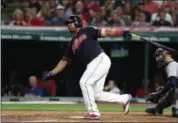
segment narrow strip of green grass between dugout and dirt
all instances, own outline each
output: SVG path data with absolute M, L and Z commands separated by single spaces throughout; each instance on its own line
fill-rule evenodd
M 64 104 L 2 104 L 2 110 L 44 110 L 44 111 L 84 111 L 84 105 L 64 105 Z M 100 111 L 122 111 L 122 106 L 117 105 L 99 105 Z M 133 105 L 131 106 L 130 111 L 132 112 L 141 112 L 144 111 L 146 106 L 143 105 Z M 171 112 L 171 109 L 168 108 L 166 112 Z

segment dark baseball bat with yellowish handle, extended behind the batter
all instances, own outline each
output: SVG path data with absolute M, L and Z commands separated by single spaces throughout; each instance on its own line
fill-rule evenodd
M 159 43 L 156 43 L 156 42 L 147 40 L 147 39 L 142 38 L 142 37 L 140 37 L 139 35 L 136 35 L 136 34 L 133 34 L 133 33 L 131 33 L 131 36 L 132 36 L 133 38 L 140 39 L 140 40 L 142 40 L 142 41 L 151 43 L 151 44 L 153 44 L 154 46 L 157 46 L 157 47 L 160 47 L 160 48 L 164 48 L 164 49 L 166 49 L 166 50 L 169 50 L 169 51 L 171 51 L 171 52 L 174 52 L 174 53 L 177 53 L 177 54 L 178 54 L 178 51 L 175 50 L 175 49 L 173 49 L 173 48 L 170 48 L 170 47 L 167 47 L 167 46 L 165 46 L 165 45 L 162 45 L 162 44 L 159 44 Z

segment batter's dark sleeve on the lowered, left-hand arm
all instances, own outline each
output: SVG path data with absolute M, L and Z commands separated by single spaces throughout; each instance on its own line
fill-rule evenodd
M 62 57 L 65 60 L 72 61 L 73 58 L 73 52 L 72 52 L 72 43 L 70 42 L 68 45 L 68 48 L 66 50 L 65 55 Z

